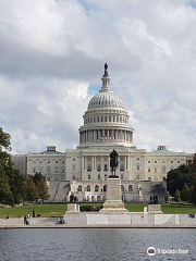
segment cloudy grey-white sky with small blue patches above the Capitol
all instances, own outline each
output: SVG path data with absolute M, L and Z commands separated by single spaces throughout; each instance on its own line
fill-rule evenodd
M 109 65 L 134 144 L 196 151 L 196 1 L 0 0 L 0 126 L 12 153 L 78 145 Z

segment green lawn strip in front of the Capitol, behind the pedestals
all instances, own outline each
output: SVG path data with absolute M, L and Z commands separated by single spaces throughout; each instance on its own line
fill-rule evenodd
M 94 207 L 102 206 L 101 203 L 81 203 L 79 206 L 90 204 Z M 146 203 L 125 203 L 125 208 L 130 212 L 143 212 L 144 207 L 147 207 Z M 181 204 L 162 204 L 162 212 L 164 214 L 196 214 L 196 206 L 181 206 Z M 53 203 L 53 204 L 32 204 L 32 206 L 20 206 L 15 208 L 1 208 L 0 217 L 10 217 L 24 216 L 25 214 L 30 214 L 35 209 L 36 214 L 40 213 L 42 217 L 48 216 L 59 216 L 63 215 L 66 211 L 65 203 Z

